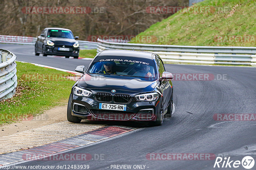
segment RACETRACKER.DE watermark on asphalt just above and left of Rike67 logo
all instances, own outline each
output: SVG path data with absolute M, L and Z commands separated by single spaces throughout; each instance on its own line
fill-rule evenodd
M 148 160 L 214 160 L 214 153 L 148 153 Z

